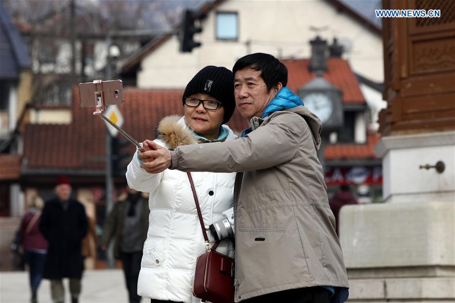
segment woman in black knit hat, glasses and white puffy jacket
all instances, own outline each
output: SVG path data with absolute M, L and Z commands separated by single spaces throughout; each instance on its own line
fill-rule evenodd
M 235 108 L 233 74 L 224 67 L 206 66 L 186 86 L 184 117 L 170 116 L 158 125 L 154 142 L 166 148 L 235 139 L 226 123 Z M 147 144 L 147 141 L 144 142 Z M 147 148 L 145 148 L 147 149 Z M 145 150 L 142 150 L 145 151 Z M 147 159 L 143 159 L 147 161 Z M 131 188 L 149 192 L 149 230 L 144 243 L 138 294 L 157 302 L 200 302 L 192 296 L 196 258 L 205 253 L 204 238 L 188 176 L 177 170 L 148 174 L 136 153 L 128 165 Z M 223 219 L 232 207 L 235 174 L 192 172 L 204 224 Z M 215 240 L 208 232 L 213 245 Z M 218 252 L 232 256 L 230 241 Z

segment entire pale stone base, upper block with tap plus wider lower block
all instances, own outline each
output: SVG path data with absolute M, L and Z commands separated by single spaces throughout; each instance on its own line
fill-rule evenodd
M 385 137 L 385 203 L 340 211 L 349 301 L 455 301 L 455 132 Z M 443 161 L 444 171 L 420 169 Z

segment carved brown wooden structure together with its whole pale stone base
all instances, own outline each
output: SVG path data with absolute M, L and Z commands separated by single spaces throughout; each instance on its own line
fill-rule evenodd
M 440 10 L 383 18 L 383 203 L 346 205 L 340 241 L 350 301 L 455 301 L 455 2 L 383 0 Z

